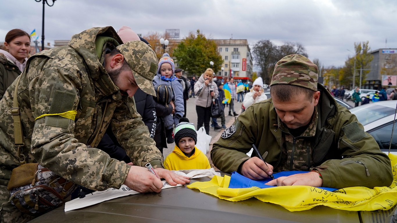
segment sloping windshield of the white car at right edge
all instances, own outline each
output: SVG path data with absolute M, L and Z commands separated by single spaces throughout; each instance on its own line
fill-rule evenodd
M 351 113 L 356 115 L 358 121 L 362 125 L 366 125 L 368 123 L 392 115 L 394 114 L 394 111 L 394 108 L 388 108 L 374 104 L 371 104 L 370 106 L 358 106 L 350 110 Z

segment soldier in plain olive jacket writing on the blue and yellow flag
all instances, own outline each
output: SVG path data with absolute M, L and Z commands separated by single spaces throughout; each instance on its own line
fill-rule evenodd
M 273 186 L 389 186 L 393 180 L 389 158 L 355 115 L 317 83 L 317 73 L 317 66 L 305 56 L 279 60 L 270 83 L 272 97 L 247 108 L 225 129 L 211 150 L 214 165 L 250 179 L 308 171 L 267 183 Z M 246 155 L 252 144 L 260 154 L 268 152 L 267 165 Z

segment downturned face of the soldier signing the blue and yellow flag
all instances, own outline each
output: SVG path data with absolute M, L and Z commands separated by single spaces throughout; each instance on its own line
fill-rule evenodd
M 297 129 L 309 124 L 312 119 L 314 107 L 318 104 L 320 92 L 313 94 L 308 100 L 305 93 L 297 94 L 287 102 L 272 97 L 274 108 L 281 121 L 290 129 Z

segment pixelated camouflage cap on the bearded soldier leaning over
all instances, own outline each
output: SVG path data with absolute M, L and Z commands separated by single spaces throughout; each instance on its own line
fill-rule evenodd
M 139 88 L 156 96 L 152 80 L 157 71 L 157 57 L 152 48 L 141 40 L 133 40 L 117 46 L 117 50 L 131 67 Z

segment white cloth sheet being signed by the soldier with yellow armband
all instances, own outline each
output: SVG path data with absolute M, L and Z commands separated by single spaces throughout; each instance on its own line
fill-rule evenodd
M 214 168 L 211 169 L 188 169 L 188 170 L 179 170 L 173 171 L 179 175 L 184 175 L 190 177 L 190 179 L 200 178 L 200 177 L 210 177 L 220 176 L 220 173 L 216 172 Z M 165 180 L 163 182 L 163 189 L 172 188 L 175 186 L 169 185 Z M 176 186 L 182 186 L 180 184 Z M 109 188 L 104 191 L 95 191 L 91 194 L 87 194 L 84 198 L 76 198 L 74 200 L 68 201 L 65 203 L 65 212 L 71 211 L 79 208 L 88 207 L 94 204 L 98 204 L 100 202 L 104 202 L 106 200 L 111 200 L 114 198 L 119 198 L 131 194 L 139 194 L 135 190 L 131 190 L 128 186 L 122 185 L 120 189 Z

